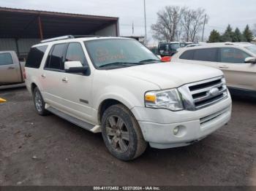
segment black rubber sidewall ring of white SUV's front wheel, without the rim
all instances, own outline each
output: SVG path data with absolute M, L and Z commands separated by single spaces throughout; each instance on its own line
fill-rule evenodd
M 115 149 L 110 145 L 110 141 L 108 140 L 108 135 L 106 132 L 106 123 L 108 117 L 115 115 L 118 117 L 121 117 L 121 120 L 124 121 L 125 125 L 127 126 L 127 130 L 129 131 L 129 147 L 127 152 L 119 153 L 116 152 Z M 121 109 L 118 105 L 110 106 L 102 117 L 102 137 L 105 141 L 105 145 L 108 148 L 109 152 L 117 157 L 120 160 L 132 160 L 135 157 L 137 148 L 138 148 L 138 137 L 136 135 L 136 132 L 134 130 L 134 123 L 132 122 L 132 116 L 129 114 L 129 112 L 124 111 L 124 109 Z

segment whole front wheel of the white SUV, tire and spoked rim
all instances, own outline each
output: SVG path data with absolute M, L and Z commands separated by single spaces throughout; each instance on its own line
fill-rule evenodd
M 137 120 L 125 106 L 110 106 L 102 117 L 102 137 L 108 151 L 120 160 L 133 160 L 146 150 Z

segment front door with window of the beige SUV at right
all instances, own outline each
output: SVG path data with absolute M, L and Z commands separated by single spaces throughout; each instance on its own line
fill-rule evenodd
M 256 90 L 256 66 L 252 63 L 244 63 L 245 58 L 250 56 L 236 47 L 219 48 L 218 67 L 225 74 L 227 86 Z

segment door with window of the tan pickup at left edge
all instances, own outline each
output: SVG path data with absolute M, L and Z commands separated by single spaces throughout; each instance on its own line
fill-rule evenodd
M 21 82 L 19 65 L 12 60 L 10 52 L 0 53 L 0 84 L 17 82 Z

